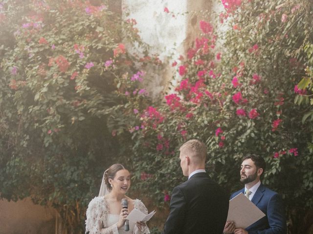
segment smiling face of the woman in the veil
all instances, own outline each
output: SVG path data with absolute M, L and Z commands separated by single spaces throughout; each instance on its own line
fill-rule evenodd
M 119 170 L 109 182 L 112 184 L 112 191 L 126 194 L 131 187 L 131 174 L 126 169 Z

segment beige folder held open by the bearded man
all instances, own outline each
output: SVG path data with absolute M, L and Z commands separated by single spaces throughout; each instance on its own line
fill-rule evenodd
M 228 221 L 234 221 L 236 228 L 246 228 L 263 218 L 265 214 L 243 193 L 229 201 Z

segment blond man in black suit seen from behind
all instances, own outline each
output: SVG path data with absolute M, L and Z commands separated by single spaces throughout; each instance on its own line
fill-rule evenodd
M 180 167 L 188 180 L 173 189 L 163 234 L 222 234 L 228 195 L 204 170 L 205 145 L 189 140 L 179 151 Z

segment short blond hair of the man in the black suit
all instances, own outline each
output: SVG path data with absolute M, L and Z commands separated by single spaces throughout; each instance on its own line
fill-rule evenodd
M 203 162 L 206 159 L 206 146 L 203 142 L 197 139 L 188 140 L 180 146 L 179 151 L 196 161 Z M 198 159 L 198 160 L 197 160 Z

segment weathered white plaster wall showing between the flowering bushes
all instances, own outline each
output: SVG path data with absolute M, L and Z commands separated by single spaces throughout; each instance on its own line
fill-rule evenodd
M 168 91 L 173 74 L 179 79 L 172 63 L 179 62 L 180 55 L 185 57 L 199 33 L 199 21 L 203 19 L 186 13 L 210 10 L 211 0 L 122 0 L 122 7 L 130 12 L 127 18 L 137 21 L 136 27 L 142 40 L 151 46 L 151 54 L 159 54 L 163 62 L 163 70 L 148 71 L 150 77 L 144 83 L 151 96 L 159 98 Z M 165 7 L 169 13 L 164 12 Z

